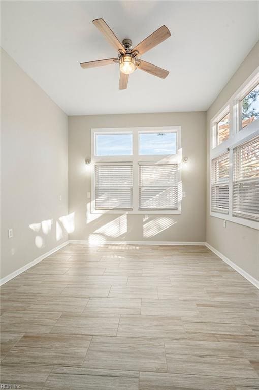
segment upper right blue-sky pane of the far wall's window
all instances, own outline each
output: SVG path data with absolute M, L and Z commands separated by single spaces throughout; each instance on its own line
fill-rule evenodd
M 176 154 L 176 133 L 140 133 L 139 154 Z

